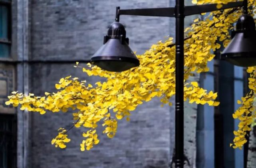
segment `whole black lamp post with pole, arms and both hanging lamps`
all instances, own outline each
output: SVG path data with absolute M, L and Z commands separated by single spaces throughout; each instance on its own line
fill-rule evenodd
M 185 6 L 184 0 L 176 0 L 175 7 L 148 9 L 116 9 L 116 18 L 104 37 L 104 45 L 91 57 L 91 63 L 107 71 L 125 71 L 139 66 L 139 60 L 128 46 L 125 28 L 119 23 L 120 15 L 162 16 L 176 18 L 176 71 L 175 71 L 175 168 L 184 165 L 184 18 L 194 14 L 244 6 L 244 15 L 238 20 L 237 30 L 221 55 L 238 66 L 256 65 L 255 23 L 247 14 L 247 0 L 230 2 L 217 8 L 217 4 Z M 250 34 L 250 36 L 249 36 Z

